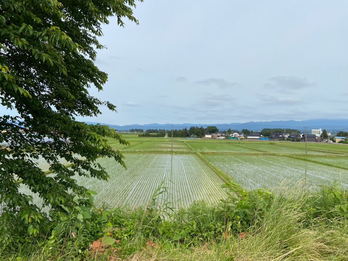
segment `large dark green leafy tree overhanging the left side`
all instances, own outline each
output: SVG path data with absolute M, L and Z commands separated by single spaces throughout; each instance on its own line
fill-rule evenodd
M 67 209 L 91 205 L 91 192 L 79 186 L 74 175 L 107 180 L 98 157 L 125 166 L 124 156 L 105 137 L 127 144 L 108 126 L 87 125 L 77 116 L 94 117 L 99 106 L 116 106 L 88 93 L 101 91 L 108 76 L 94 64 L 101 25 L 116 16 L 135 22 L 136 0 L 0 1 L 0 100 L 15 116 L 0 117 L 0 241 L 15 233 L 37 235 L 48 216 L 31 197 L 19 192 L 18 179 L 38 193 L 51 217 Z M 84 159 L 81 159 L 84 157 Z M 35 160 L 49 163 L 47 176 Z M 61 164 L 65 159 L 71 168 Z M 84 208 L 86 210 L 86 208 Z M 83 214 L 83 213 L 82 213 Z M 85 216 L 87 216 L 85 214 Z M 81 216 L 79 216 L 81 217 Z M 23 231 L 21 231 L 23 229 Z

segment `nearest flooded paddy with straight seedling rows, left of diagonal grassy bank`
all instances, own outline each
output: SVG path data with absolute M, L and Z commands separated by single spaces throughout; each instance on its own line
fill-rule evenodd
M 174 207 L 185 207 L 194 200 L 216 201 L 225 195 L 220 188 L 223 184 L 220 177 L 194 154 L 127 153 L 125 156 L 127 169 L 115 164 L 113 159 L 98 159 L 110 175 L 109 182 L 74 177 L 80 185 L 98 193 L 95 197 L 97 205 L 104 201 L 112 206 L 147 204 L 162 181 L 168 187 L 168 194 L 161 194 L 159 204 L 167 199 Z M 21 185 L 21 191 L 31 194 L 25 185 Z M 34 202 L 40 203 L 35 195 Z

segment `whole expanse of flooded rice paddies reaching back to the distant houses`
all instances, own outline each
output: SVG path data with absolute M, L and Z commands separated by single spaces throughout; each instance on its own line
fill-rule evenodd
M 97 205 L 105 199 L 112 206 L 145 205 L 162 182 L 168 193 L 157 197 L 158 204 L 170 201 L 174 207 L 186 207 L 195 200 L 216 201 L 226 195 L 220 188 L 224 183 L 220 172 L 246 189 L 274 188 L 299 181 L 312 189 L 335 181 L 348 187 L 348 146 L 344 144 L 308 143 L 306 155 L 301 142 L 173 139 L 172 151 L 170 138 L 133 134 L 124 138 L 130 146 L 111 140 L 109 144 L 124 154 L 127 169 L 111 159 L 100 158 L 98 162 L 110 175 L 108 182 L 75 177 L 80 185 L 98 193 Z M 45 162 L 38 165 L 48 169 Z M 24 185 L 21 190 L 31 193 Z M 40 201 L 35 195 L 34 200 Z

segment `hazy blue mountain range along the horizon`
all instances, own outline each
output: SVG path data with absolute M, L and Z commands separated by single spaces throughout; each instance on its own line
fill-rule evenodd
M 97 122 L 86 122 L 87 124 L 96 124 Z M 120 131 L 128 131 L 129 129 L 171 129 L 172 124 L 132 124 L 132 125 L 113 125 L 100 123 L 102 125 L 109 125 L 111 128 L 120 130 Z M 307 126 L 307 129 L 326 129 L 328 132 L 336 133 L 340 130 L 347 131 L 348 130 L 348 119 L 347 120 L 329 120 L 329 119 L 314 119 L 314 120 L 276 120 L 276 121 L 250 121 L 245 123 L 233 122 L 233 123 L 223 123 L 223 124 L 192 124 L 192 123 L 184 123 L 184 124 L 173 124 L 174 129 L 189 129 L 192 126 L 203 126 L 206 128 L 207 126 L 216 126 L 219 130 L 254 130 L 260 131 L 263 128 L 287 128 L 287 129 L 298 129 L 303 131 Z

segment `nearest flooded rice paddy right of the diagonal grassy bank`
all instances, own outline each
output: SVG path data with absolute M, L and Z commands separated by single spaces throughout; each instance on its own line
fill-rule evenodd
M 306 180 L 306 185 L 329 185 L 338 181 L 348 187 L 348 171 L 279 156 L 205 155 L 214 166 L 229 174 L 233 180 L 248 189 L 274 188 L 283 182 Z

